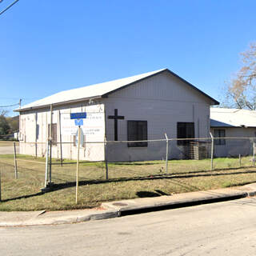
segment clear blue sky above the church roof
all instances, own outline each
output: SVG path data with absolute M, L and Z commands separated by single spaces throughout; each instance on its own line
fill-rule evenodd
M 254 0 L 20 0 L 0 16 L 0 106 L 162 68 L 220 100 L 256 41 L 255 10 Z

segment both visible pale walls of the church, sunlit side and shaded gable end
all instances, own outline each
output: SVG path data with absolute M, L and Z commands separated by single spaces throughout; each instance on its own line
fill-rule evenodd
M 86 95 L 85 95 L 86 96 Z M 134 85 L 110 94 L 97 103 L 103 103 L 106 110 L 106 139 L 114 141 L 114 120 L 108 119 L 118 109 L 118 115 L 125 117 L 118 120 L 118 140 L 127 140 L 127 121 L 147 121 L 148 139 L 177 138 L 177 122 L 194 122 L 194 132 L 197 138 L 208 138 L 210 131 L 210 98 L 182 82 L 179 78 L 164 72 L 146 78 Z M 88 102 L 54 108 L 53 123 L 58 124 L 59 113 L 84 112 Z M 95 103 L 96 104 L 96 103 Z M 21 154 L 45 156 L 47 139 L 47 126 L 50 123 L 50 110 L 26 111 L 21 113 Z M 26 119 L 26 121 L 22 121 Z M 36 127 L 38 126 L 38 132 Z M 30 142 L 22 144 L 22 142 Z M 38 142 L 35 146 L 34 142 Z M 62 142 L 73 142 L 73 136 L 62 135 Z M 95 146 L 95 144 L 94 144 Z M 96 147 L 86 144 L 81 150 L 80 158 L 85 160 L 104 160 L 104 145 Z M 63 158 L 76 158 L 76 147 L 71 144 L 62 145 Z M 184 147 L 171 142 L 169 158 L 183 158 Z M 61 157 L 60 145 L 53 146 L 53 157 Z M 107 146 L 107 160 L 114 161 L 143 161 L 166 157 L 166 142 L 149 142 L 146 147 L 128 147 L 126 143 L 111 144 Z

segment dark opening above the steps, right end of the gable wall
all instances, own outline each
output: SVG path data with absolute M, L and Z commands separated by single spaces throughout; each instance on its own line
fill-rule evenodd
M 177 138 L 194 138 L 194 122 L 177 122 Z M 177 141 L 177 145 L 187 145 L 191 141 Z

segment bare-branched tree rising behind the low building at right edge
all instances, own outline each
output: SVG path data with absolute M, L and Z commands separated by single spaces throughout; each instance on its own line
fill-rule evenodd
M 223 105 L 256 110 L 256 42 L 241 55 L 243 66 L 227 85 Z

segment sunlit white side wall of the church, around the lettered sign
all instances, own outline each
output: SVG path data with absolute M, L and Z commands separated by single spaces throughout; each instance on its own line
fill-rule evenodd
M 53 110 L 52 123 L 57 123 L 57 141 L 62 141 L 57 146 L 52 146 L 52 157 L 76 159 L 77 147 L 74 146 L 74 135 L 62 134 L 61 116 L 76 113 L 86 112 L 91 106 L 86 106 L 80 103 L 79 105 L 56 107 Z M 20 154 L 30 154 L 34 156 L 44 157 L 46 155 L 46 141 L 48 138 L 48 124 L 50 124 L 50 110 L 26 111 L 20 115 Z M 105 127 L 104 127 L 105 130 Z M 105 132 L 104 132 L 105 133 Z M 103 141 L 104 134 L 101 138 L 86 136 L 86 142 Z M 26 142 L 26 143 L 24 143 Z M 37 142 L 37 144 L 35 144 Z M 69 142 L 69 143 L 65 143 Z M 61 148 L 62 147 L 62 148 Z M 81 160 L 102 161 L 105 159 L 104 144 L 87 143 L 80 148 Z

